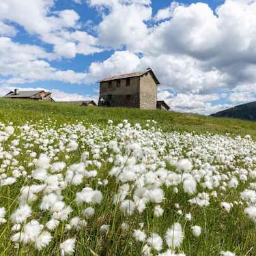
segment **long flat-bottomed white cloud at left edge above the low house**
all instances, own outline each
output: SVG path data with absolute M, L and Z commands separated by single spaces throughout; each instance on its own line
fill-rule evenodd
M 47 60 L 55 55 L 38 46 L 17 44 L 10 38 L 0 38 L 1 84 L 32 83 L 34 81 L 63 81 L 85 83 L 85 73 L 57 70 Z

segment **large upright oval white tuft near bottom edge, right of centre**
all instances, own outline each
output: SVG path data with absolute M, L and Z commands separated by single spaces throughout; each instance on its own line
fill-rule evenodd
M 182 226 L 180 223 L 174 223 L 170 229 L 167 229 L 165 240 L 169 248 L 180 247 L 184 238 Z

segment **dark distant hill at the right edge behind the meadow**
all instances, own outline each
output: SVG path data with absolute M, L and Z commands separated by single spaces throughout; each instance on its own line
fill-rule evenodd
M 247 104 L 234 106 L 231 109 L 220 111 L 212 116 L 231 117 L 231 118 L 239 118 L 244 120 L 256 121 L 256 102 L 250 102 Z

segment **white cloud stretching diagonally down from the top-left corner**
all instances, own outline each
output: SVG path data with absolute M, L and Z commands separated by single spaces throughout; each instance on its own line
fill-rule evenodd
M 86 31 L 80 32 L 84 34 L 83 39 L 87 37 L 90 40 L 79 40 L 76 33 L 81 28 L 79 14 L 74 10 L 53 12 L 54 5 L 54 0 L 9 0 L 0 3 L 0 34 L 3 30 L 1 27 L 4 25 L 4 29 L 9 29 L 9 34 L 14 35 L 14 30 L 10 31 L 10 27 L 4 24 L 5 20 L 8 20 L 18 23 L 29 33 L 38 35 L 43 42 L 53 44 L 60 57 L 73 58 L 76 53 L 87 55 L 100 52 L 96 45 L 91 45 L 96 43 L 96 38 Z M 27 15 L 28 12 L 29 15 Z M 68 34 L 68 31 L 72 33 Z M 71 46 L 71 49 L 68 46 Z

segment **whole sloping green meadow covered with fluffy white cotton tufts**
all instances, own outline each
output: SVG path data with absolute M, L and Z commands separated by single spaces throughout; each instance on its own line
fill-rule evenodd
M 256 255 L 256 123 L 0 99 L 0 255 Z

